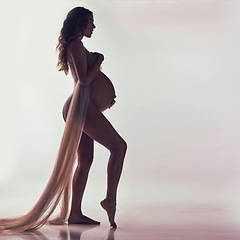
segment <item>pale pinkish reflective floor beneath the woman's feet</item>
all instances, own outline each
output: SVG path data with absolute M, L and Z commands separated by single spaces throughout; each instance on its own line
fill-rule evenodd
M 125 209 L 126 210 L 126 209 Z M 131 208 L 117 218 L 118 229 L 100 226 L 44 226 L 1 240 L 239 240 L 240 212 L 214 204 L 163 204 Z

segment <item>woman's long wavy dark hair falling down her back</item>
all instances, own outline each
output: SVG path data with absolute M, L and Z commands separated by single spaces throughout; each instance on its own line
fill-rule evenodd
M 63 27 L 58 38 L 58 45 L 56 50 L 59 51 L 57 68 L 58 71 L 64 71 L 67 75 L 69 66 L 67 61 L 67 47 L 68 44 L 82 35 L 87 27 L 88 18 L 92 12 L 84 7 L 73 8 L 63 22 Z

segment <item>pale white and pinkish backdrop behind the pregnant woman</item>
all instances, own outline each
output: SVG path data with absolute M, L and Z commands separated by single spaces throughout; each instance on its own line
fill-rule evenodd
M 128 143 L 120 206 L 240 203 L 239 1 L 4 1 L 0 14 L 0 217 L 26 213 L 43 191 L 64 129 L 71 76 L 56 70 L 62 22 L 93 11 L 84 39 L 105 56 Z M 84 197 L 98 214 L 108 152 L 95 146 Z

